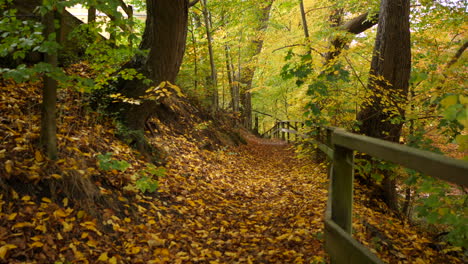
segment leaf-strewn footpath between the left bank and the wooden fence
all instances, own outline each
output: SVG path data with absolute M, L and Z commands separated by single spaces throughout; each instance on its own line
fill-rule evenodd
M 192 167 L 202 173 L 169 192 L 180 204 L 169 206 L 161 235 L 195 263 L 321 261 L 326 174 L 290 145 L 251 139 Z

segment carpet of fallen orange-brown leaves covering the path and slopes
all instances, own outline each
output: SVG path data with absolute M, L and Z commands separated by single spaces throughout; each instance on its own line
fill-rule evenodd
M 247 135 L 247 145 L 208 151 L 193 137 L 197 126 L 176 133 L 153 120 L 151 143 L 169 155 L 157 192 L 143 194 L 125 187 L 145 161 L 82 95 L 60 91 L 60 157 L 52 162 L 36 147 L 39 83 L 0 90 L 0 184 L 13 186 L 0 192 L 0 263 L 327 262 L 327 170 L 290 145 Z M 97 155 L 107 152 L 131 167 L 103 171 Z M 61 181 L 97 192 L 68 197 L 73 190 Z M 354 235 L 386 262 L 462 263 L 368 203 L 358 187 Z

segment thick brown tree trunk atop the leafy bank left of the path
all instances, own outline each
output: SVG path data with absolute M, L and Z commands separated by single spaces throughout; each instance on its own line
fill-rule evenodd
M 147 58 L 135 58 L 128 66 L 139 69 L 152 81 L 153 86 L 162 81 L 174 83 L 185 51 L 188 0 L 147 0 L 146 5 L 146 28 L 140 48 L 149 49 L 149 54 Z M 148 88 L 139 80 L 122 81 L 120 86 L 122 94 L 135 99 L 144 95 Z M 145 150 L 145 143 L 141 141 L 142 132 L 148 118 L 157 110 L 158 102 L 143 101 L 140 105 L 121 103 L 118 107 L 128 129 L 140 131 L 134 140 L 140 151 Z

